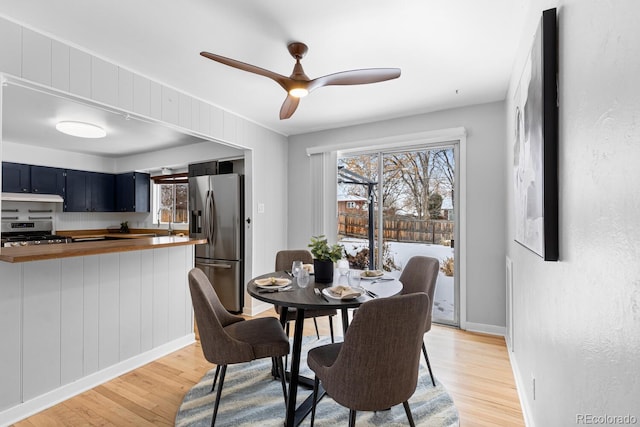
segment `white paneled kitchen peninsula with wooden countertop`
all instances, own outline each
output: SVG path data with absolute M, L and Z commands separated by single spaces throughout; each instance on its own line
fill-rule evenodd
M 0 250 L 0 425 L 193 342 L 197 241 L 134 240 L 148 244 L 25 262 L 4 258 L 28 248 Z M 83 245 L 100 243 L 48 246 Z

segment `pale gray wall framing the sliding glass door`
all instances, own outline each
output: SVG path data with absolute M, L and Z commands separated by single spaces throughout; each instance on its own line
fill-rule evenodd
M 289 247 L 312 235 L 307 147 L 464 127 L 467 131 L 467 313 L 484 328 L 505 325 L 505 112 L 496 102 L 289 138 Z M 464 237 L 463 237 L 464 238 Z

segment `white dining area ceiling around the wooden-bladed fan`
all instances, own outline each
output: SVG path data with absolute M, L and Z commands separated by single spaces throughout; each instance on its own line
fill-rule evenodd
M 504 99 L 528 5 L 529 0 L 3 0 L 0 15 L 295 135 Z M 309 46 L 302 63 L 310 78 L 376 67 L 397 67 L 402 75 L 320 88 L 301 100 L 290 119 L 279 120 L 286 96 L 280 86 L 199 55 L 209 51 L 289 75 L 291 41 Z

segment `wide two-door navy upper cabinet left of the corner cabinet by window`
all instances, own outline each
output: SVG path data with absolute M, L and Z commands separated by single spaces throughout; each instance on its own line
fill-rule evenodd
M 67 170 L 66 212 L 113 212 L 115 175 Z

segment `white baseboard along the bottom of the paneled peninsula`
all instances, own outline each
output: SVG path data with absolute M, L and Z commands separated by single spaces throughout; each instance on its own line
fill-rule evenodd
M 147 363 L 153 362 L 154 360 L 166 356 L 169 353 L 180 350 L 193 342 L 195 342 L 195 334 L 190 333 L 145 353 L 109 366 L 101 371 L 87 375 L 86 377 L 80 378 L 70 384 L 65 384 L 34 399 L 6 409 L 0 412 L 0 426 L 7 426 L 23 420 L 35 413 L 50 408 L 51 406 L 63 402 L 73 396 L 92 389 L 93 387 L 139 368 L 142 365 L 146 365 Z

